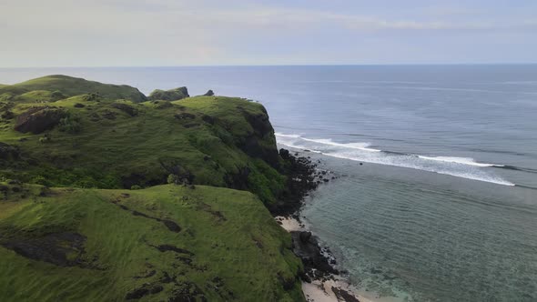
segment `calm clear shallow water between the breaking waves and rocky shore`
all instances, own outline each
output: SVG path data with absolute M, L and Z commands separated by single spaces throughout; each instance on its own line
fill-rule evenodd
M 302 215 L 353 284 L 411 301 L 537 299 L 531 190 L 310 156 L 341 177 Z

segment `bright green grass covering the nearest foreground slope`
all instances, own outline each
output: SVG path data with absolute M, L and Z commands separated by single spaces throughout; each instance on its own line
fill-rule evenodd
M 167 185 L 55 188 L 48 195 L 0 202 L 0 243 L 51 232 L 81 234 L 86 242 L 80 262 L 90 266 L 58 267 L 0 247 L 2 301 L 117 301 L 143 287 L 162 288 L 141 298 L 147 301 L 167 300 L 185 288 L 198 300 L 303 299 L 295 279 L 301 264 L 289 249 L 289 234 L 248 192 Z M 154 218 L 174 221 L 181 231 Z M 156 247 L 163 245 L 192 255 L 160 252 Z

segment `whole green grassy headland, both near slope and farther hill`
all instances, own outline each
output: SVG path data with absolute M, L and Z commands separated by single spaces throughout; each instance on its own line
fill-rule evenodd
M 136 92 L 0 87 L 0 300 L 303 300 L 265 108 Z

